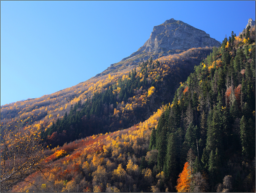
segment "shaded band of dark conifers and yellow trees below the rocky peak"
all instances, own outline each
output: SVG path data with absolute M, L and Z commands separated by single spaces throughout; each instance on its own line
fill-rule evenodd
M 163 101 L 171 100 L 179 81 L 185 80 L 210 48 L 191 49 L 170 59 L 142 62 L 113 84 L 104 85 L 85 102 L 70 106 L 41 137 L 53 146 L 63 145 L 85 136 L 113 132 L 146 120 Z M 200 58 L 200 59 L 197 59 Z M 171 65 L 166 65 L 166 62 Z M 111 75 L 108 77 L 111 79 Z M 68 133 L 68 135 L 67 135 Z

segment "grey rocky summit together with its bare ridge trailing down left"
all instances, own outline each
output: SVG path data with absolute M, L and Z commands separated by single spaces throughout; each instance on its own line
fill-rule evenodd
M 219 47 L 221 43 L 206 32 L 199 30 L 187 23 L 174 19 L 166 20 L 163 24 L 153 28 L 153 32 L 138 51 L 111 66 L 96 77 L 110 72 L 120 71 L 141 61 L 160 58 L 171 54 L 180 53 L 190 48 Z

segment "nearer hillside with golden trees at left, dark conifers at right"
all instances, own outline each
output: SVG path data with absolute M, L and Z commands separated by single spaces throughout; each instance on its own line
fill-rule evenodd
M 255 28 L 229 40 L 148 120 L 49 148 L 11 191 L 255 192 Z

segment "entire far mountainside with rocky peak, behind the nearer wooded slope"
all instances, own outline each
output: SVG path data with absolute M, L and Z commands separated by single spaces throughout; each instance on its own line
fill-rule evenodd
M 140 58 L 136 65 L 129 63 L 130 59 L 123 60 L 130 67 L 115 66 L 116 72 L 108 71 L 104 75 L 104 71 L 74 87 L 1 106 L 2 122 L 11 120 L 10 127 L 15 127 L 16 122 L 21 121 L 25 130 L 42 132 L 44 140 L 57 146 L 92 134 L 128 128 L 146 120 L 162 102 L 173 98 L 179 83 L 184 82 L 194 66 L 212 51 L 211 47 L 199 46 L 219 45 L 205 32 L 174 19 L 155 26 L 152 34 L 139 52 L 143 50 L 158 60 L 148 57 L 145 60 L 136 52 L 133 55 Z M 168 52 L 168 49 L 177 49 L 177 41 L 184 41 L 185 47 L 180 49 L 191 49 L 181 53 Z M 160 52 L 162 48 L 165 52 Z M 168 56 L 160 57 L 162 55 Z

